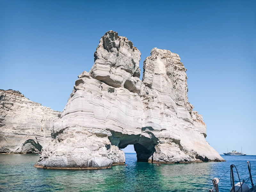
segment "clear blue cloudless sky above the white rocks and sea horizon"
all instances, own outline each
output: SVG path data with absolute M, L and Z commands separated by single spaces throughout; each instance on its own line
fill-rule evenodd
M 153 47 L 178 53 L 206 140 L 219 153 L 256 155 L 255 2 L 1 0 L 0 89 L 62 111 L 114 30 L 141 51 L 141 69 Z

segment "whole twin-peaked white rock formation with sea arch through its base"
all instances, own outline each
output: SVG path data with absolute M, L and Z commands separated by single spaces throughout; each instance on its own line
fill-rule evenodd
M 139 79 L 140 51 L 108 31 L 94 65 L 78 76 L 53 141 L 36 167 L 109 168 L 124 164 L 120 149 L 134 144 L 138 161 L 224 161 L 205 141 L 202 115 L 187 97 L 187 75 L 179 55 L 153 48 Z

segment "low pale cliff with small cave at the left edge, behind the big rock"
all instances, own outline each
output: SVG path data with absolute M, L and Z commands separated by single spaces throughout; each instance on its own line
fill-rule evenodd
M 19 91 L 0 90 L 0 153 L 40 153 L 51 141 L 60 111 L 30 101 Z

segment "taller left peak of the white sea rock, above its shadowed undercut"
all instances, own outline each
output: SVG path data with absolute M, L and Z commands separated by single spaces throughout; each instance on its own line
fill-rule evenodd
M 140 51 L 126 37 L 108 31 L 100 39 L 94 53 L 90 74 L 112 87 L 140 92 Z

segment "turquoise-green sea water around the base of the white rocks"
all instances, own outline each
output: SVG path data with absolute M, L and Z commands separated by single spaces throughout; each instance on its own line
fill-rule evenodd
M 136 153 L 126 153 L 128 166 L 99 170 L 50 170 L 33 167 L 39 155 L 0 155 L 0 191 L 95 191 L 95 192 L 208 192 L 212 179 L 220 178 L 231 164 L 241 179 L 249 177 L 246 161 L 256 174 L 256 156 L 223 156 L 226 162 L 156 164 L 137 162 Z M 235 172 L 235 171 L 234 171 Z M 237 176 L 235 174 L 237 179 Z M 256 175 L 252 176 L 256 184 Z M 236 180 L 238 182 L 238 180 Z M 247 183 L 251 187 L 250 180 Z M 230 189 L 230 172 L 219 183 L 220 192 Z

